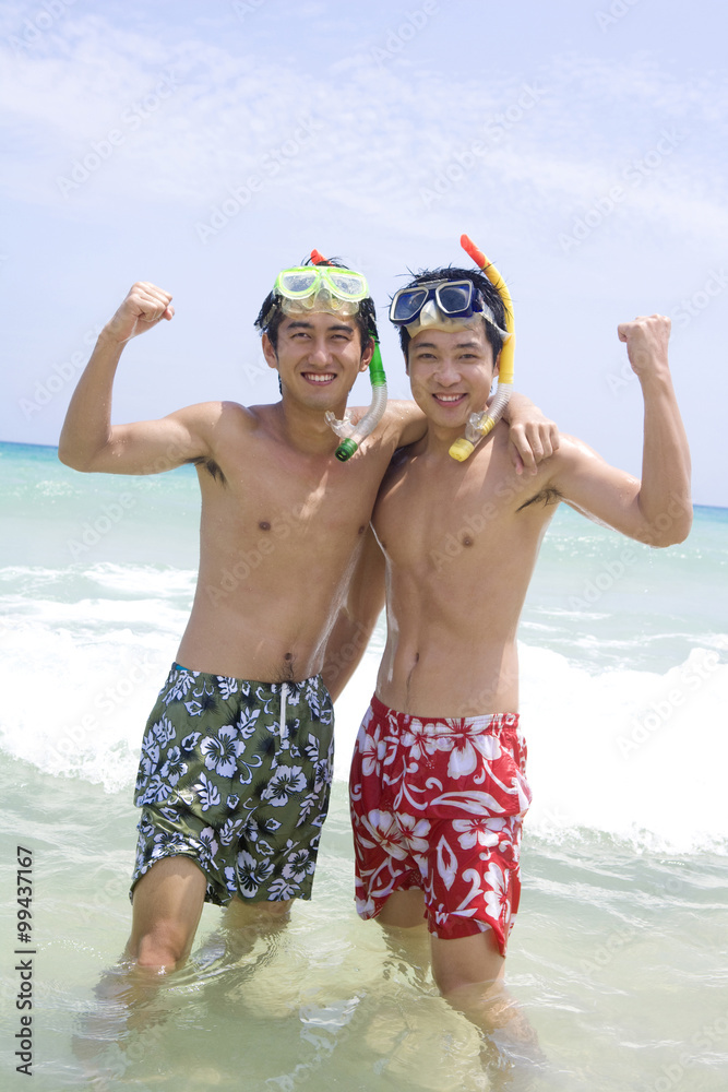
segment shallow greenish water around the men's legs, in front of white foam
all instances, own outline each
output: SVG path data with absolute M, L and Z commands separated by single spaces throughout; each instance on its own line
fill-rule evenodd
M 588 831 L 558 844 L 526 830 L 508 982 L 547 1060 L 489 1075 L 478 1034 L 438 996 L 421 946 L 407 956 L 357 918 L 343 784 L 313 899 L 290 924 L 236 939 L 206 906 L 188 965 L 130 1007 L 95 994 L 129 928 L 129 794 L 19 761 L 8 773 L 2 859 L 13 860 L 19 839 L 34 858 L 34 1088 L 726 1088 L 723 856 L 635 853 Z M 3 1026 L 13 1030 L 11 965 Z M 8 1032 L 2 1046 L 12 1071 Z

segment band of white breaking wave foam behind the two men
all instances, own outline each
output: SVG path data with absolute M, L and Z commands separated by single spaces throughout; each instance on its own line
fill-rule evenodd
M 33 597 L 3 598 L 0 747 L 47 774 L 108 792 L 130 787 L 194 574 L 107 566 L 76 574 L 98 594 L 70 601 L 48 598 L 53 581 L 38 575 Z M 56 578 L 60 583 L 68 573 Z M 584 639 L 574 634 L 568 655 L 521 646 L 529 829 L 550 840 L 586 829 L 676 852 L 725 846 L 728 665 L 717 651 L 725 652 L 724 638 L 709 634 L 663 673 L 598 670 L 592 662 L 587 670 L 575 662 Z M 339 781 L 374 690 L 381 640 L 378 632 L 337 702 Z

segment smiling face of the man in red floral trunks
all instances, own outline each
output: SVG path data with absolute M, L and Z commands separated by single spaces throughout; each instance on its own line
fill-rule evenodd
M 409 342 L 407 373 L 429 420 L 462 430 L 470 414 L 484 408 L 498 375 L 482 319 L 463 321 L 456 330 L 421 330 Z

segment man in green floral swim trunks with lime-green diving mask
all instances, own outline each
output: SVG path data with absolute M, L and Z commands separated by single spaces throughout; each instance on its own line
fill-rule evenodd
M 142 966 L 186 960 L 205 899 L 247 922 L 310 895 L 332 779 L 326 643 L 366 644 L 380 601 L 355 602 L 350 580 L 356 571 L 366 585 L 368 566 L 379 566 L 369 532 L 377 490 L 395 450 L 423 427 L 416 406 L 393 402 L 349 462 L 334 456 L 324 414 L 343 416 L 369 365 L 374 312 L 366 282 L 355 307 L 314 281 L 298 309 L 276 289 L 259 317 L 279 402 L 207 402 L 111 425 L 124 346 L 174 316 L 168 293 L 135 284 L 98 337 L 60 437 L 62 462 L 84 472 L 194 463 L 202 495 L 192 612 L 140 762 L 127 954 Z M 532 447 L 551 443 L 537 416 L 513 426 L 528 470 Z M 330 674 L 335 696 L 347 669 Z

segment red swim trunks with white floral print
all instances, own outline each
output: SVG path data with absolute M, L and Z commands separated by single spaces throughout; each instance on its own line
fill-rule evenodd
M 373 697 L 349 780 L 359 915 L 421 888 L 430 933 L 491 928 L 504 956 L 521 895 L 525 770 L 516 713 L 419 717 Z

